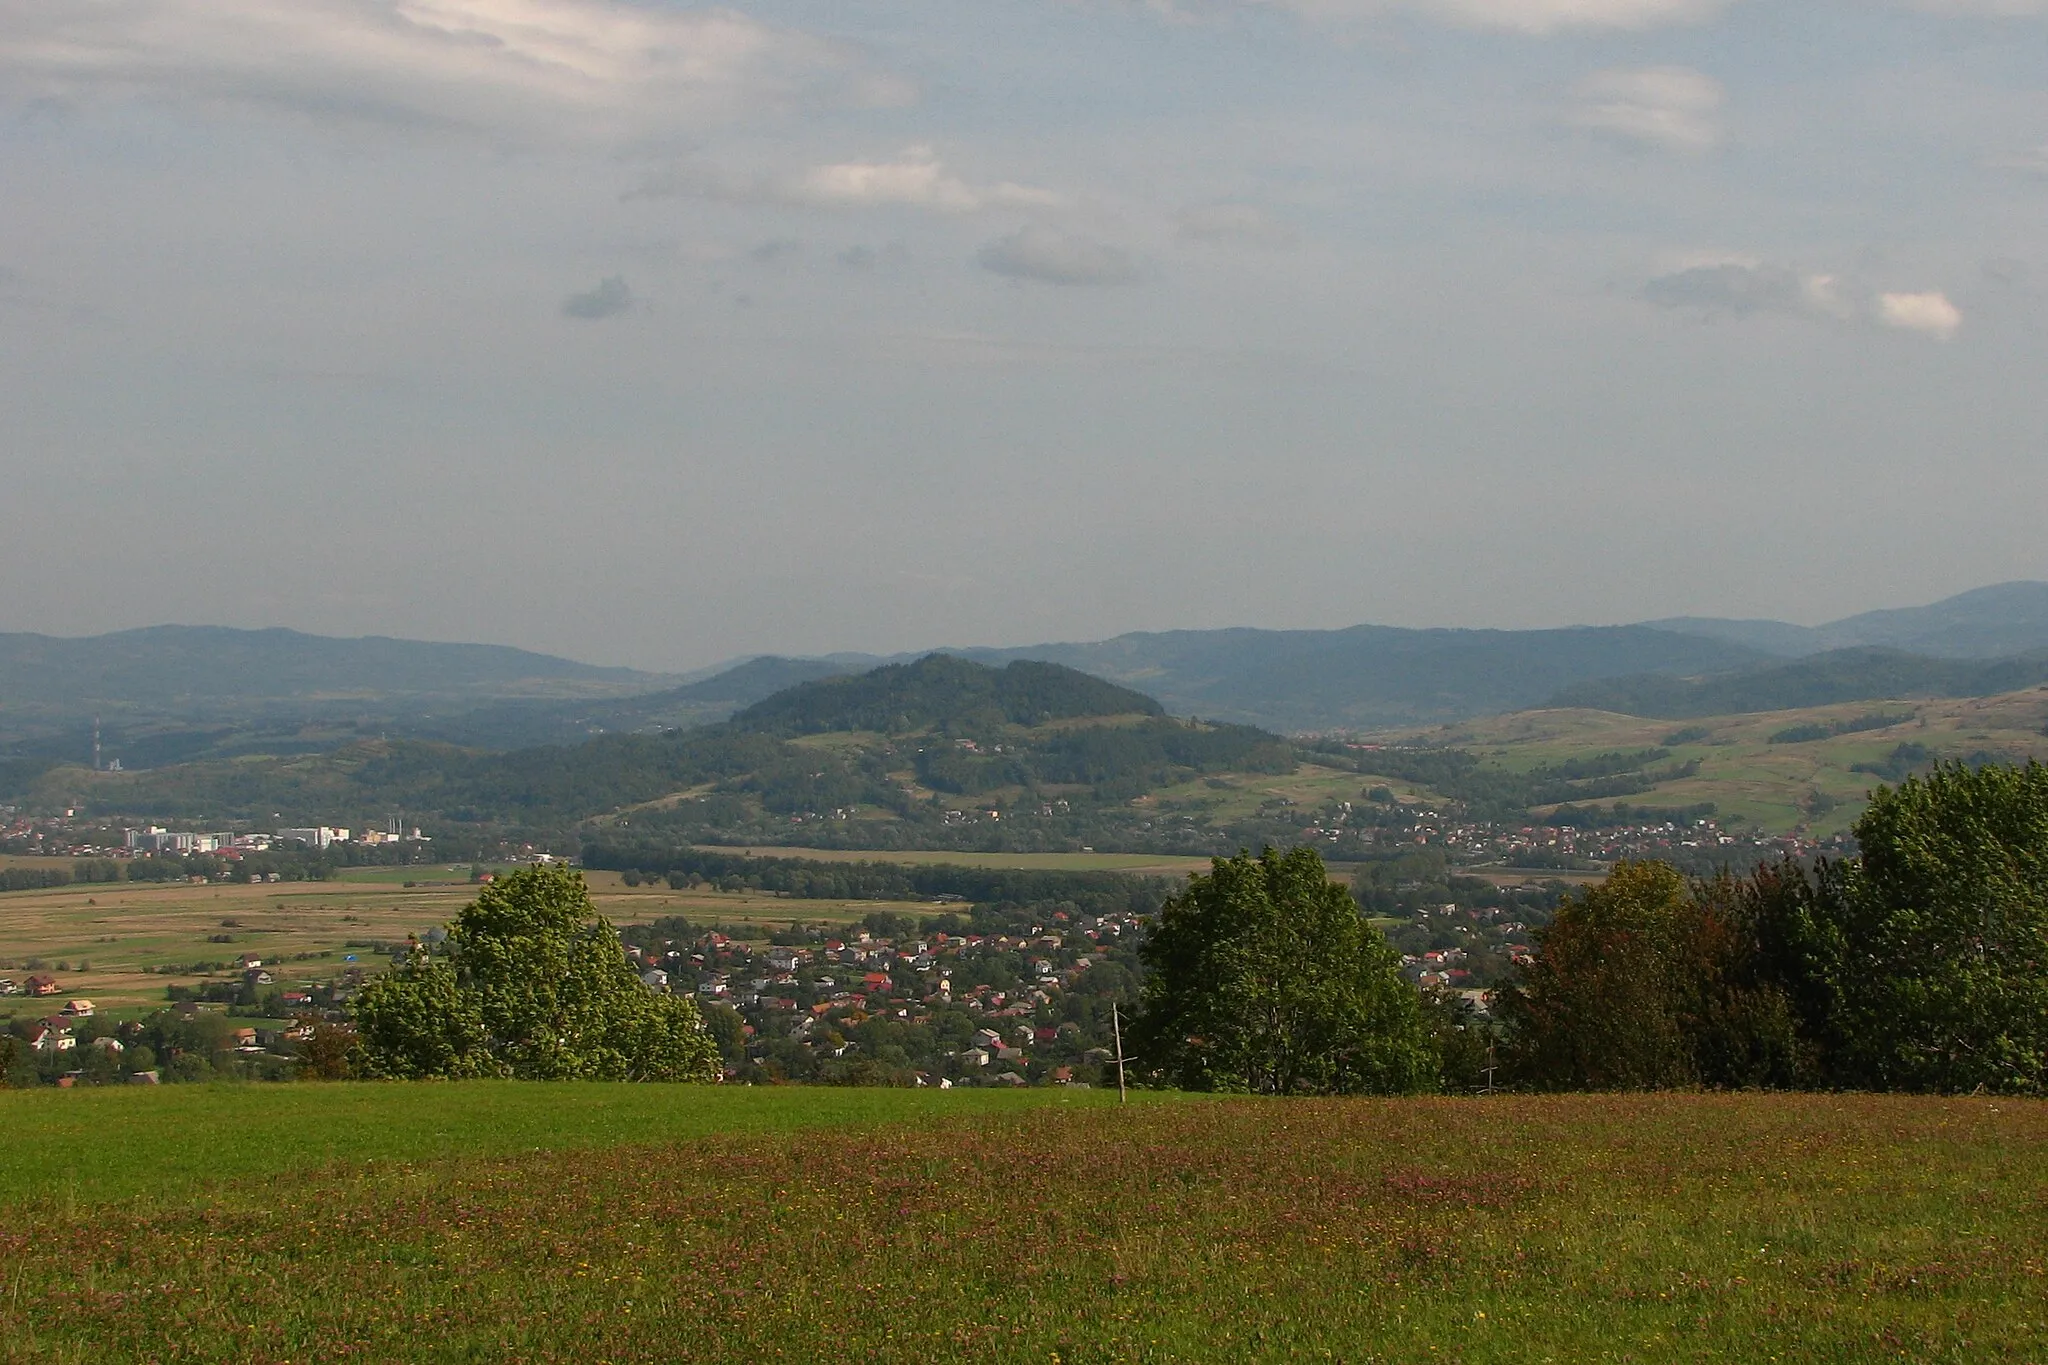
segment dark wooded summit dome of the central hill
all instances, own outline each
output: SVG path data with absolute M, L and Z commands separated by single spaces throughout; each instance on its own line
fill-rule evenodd
M 733 726 L 764 735 L 879 731 L 903 735 L 930 724 L 1034 726 L 1051 720 L 1163 716 L 1143 692 L 1090 677 L 1057 663 L 1014 661 L 993 669 L 950 655 L 891 663 L 870 673 L 823 677 L 733 716 Z

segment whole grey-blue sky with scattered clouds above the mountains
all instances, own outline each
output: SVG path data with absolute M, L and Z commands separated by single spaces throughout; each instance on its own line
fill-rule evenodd
M 0 0 L 0 630 L 2048 577 L 2048 0 Z

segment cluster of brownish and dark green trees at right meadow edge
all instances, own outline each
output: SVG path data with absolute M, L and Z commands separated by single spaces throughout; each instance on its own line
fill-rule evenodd
M 1878 790 L 1860 857 L 1569 900 L 1499 995 L 1536 1087 L 2048 1089 L 2048 767 Z

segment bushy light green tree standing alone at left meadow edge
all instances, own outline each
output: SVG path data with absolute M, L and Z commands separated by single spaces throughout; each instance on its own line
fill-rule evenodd
M 596 917 L 584 878 L 502 878 L 356 1001 L 367 1076 L 717 1081 L 719 1048 L 688 999 L 655 995 Z

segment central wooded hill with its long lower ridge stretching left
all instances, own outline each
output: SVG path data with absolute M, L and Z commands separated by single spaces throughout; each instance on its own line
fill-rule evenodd
M 834 731 L 844 739 L 819 743 Z M 406 810 L 444 831 L 547 835 L 594 821 L 682 843 L 801 829 L 846 847 L 930 847 L 975 823 L 1001 837 L 1030 825 L 1042 847 L 1065 847 L 1087 841 L 1092 812 L 1155 788 L 1286 774 L 1296 761 L 1276 735 L 1176 720 L 1143 694 L 1059 665 L 928 657 L 801 684 L 690 731 L 510 753 L 371 741 L 127 774 L 0 765 L 0 800 L 279 825 Z

